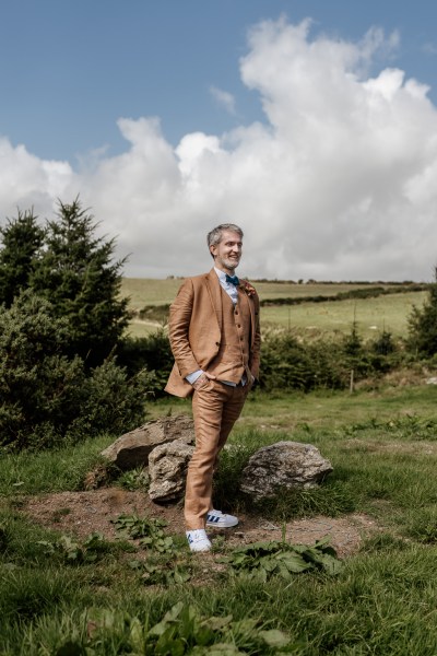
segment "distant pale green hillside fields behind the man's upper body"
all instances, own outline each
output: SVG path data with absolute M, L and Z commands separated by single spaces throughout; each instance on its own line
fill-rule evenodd
M 181 284 L 181 280 L 156 280 L 125 278 L 121 294 L 130 297 L 132 309 L 142 309 L 146 305 L 165 305 L 172 303 Z M 302 296 L 333 296 L 341 292 L 361 289 L 361 284 L 293 284 L 281 282 L 258 282 L 257 291 L 261 301 Z M 377 283 L 375 283 L 377 286 Z M 379 285 L 378 286 L 382 286 Z M 389 285 L 383 285 L 389 286 Z M 408 317 L 413 305 L 421 306 L 426 292 L 405 292 L 387 294 L 375 298 L 349 298 L 321 303 L 303 303 L 299 305 L 277 305 L 261 308 L 262 328 L 282 327 L 297 329 L 304 335 L 320 332 L 349 332 L 355 320 L 358 331 L 364 338 L 375 337 L 386 329 L 394 336 L 406 335 Z M 134 320 L 129 327 L 132 336 L 140 337 L 156 330 L 158 323 Z

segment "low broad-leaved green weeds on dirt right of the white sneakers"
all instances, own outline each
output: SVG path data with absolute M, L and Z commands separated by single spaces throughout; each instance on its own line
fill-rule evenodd
M 229 563 L 236 573 L 262 582 L 275 575 L 290 581 L 293 574 L 315 569 L 336 575 L 341 572 L 342 563 L 328 542 L 328 539 L 318 540 L 314 547 L 290 544 L 284 540 L 255 542 L 234 549 L 225 562 Z

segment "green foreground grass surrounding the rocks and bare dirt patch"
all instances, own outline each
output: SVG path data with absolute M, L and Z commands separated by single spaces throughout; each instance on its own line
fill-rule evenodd
M 279 629 L 290 641 L 285 653 L 300 656 L 434 656 L 435 394 L 433 386 L 354 395 L 256 394 L 246 405 L 222 458 L 216 497 L 243 507 L 238 476 L 260 446 L 284 438 L 318 446 L 334 467 L 326 483 L 282 495 L 270 507 L 252 512 L 269 512 L 283 522 L 320 513 L 345 516 L 351 511 L 373 517 L 379 531 L 363 541 L 334 577 L 317 571 L 288 581 L 238 576 L 221 564 L 228 554 L 225 543 L 213 555 L 192 557 L 181 536 L 174 536 L 169 552 L 146 552 L 130 540 L 129 550 L 103 544 L 95 561 L 70 562 L 61 552 L 42 547 L 59 541 L 59 534 L 24 516 L 20 497 L 78 489 L 107 440 L 49 454 L 8 456 L 0 471 L 0 653 L 172 653 L 169 642 L 161 652 L 156 645 L 144 652 L 144 645 L 149 629 L 181 602 L 193 614 L 180 611 L 172 620 L 172 640 L 181 641 L 172 649 L 185 649 L 173 653 L 190 653 L 200 640 L 196 626 L 202 625 L 214 626 L 215 641 L 233 642 L 229 654 L 237 653 L 235 645 L 239 653 L 280 653 L 261 640 L 263 631 Z M 189 405 L 160 401 L 153 411 L 189 412 Z M 16 488 L 15 482 L 22 484 Z M 169 572 L 179 572 L 180 582 L 177 576 L 169 579 Z M 161 575 L 160 583 L 151 584 L 151 573 L 155 579 Z M 225 620 L 228 616 L 232 620 Z M 166 622 L 160 624 L 164 633 Z M 220 633 L 223 622 L 231 622 L 229 631 Z M 165 635 L 170 641 L 169 633 Z M 199 646 L 198 653 L 216 652 Z

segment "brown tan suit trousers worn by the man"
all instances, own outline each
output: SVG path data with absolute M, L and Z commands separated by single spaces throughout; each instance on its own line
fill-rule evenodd
M 212 509 L 212 477 L 218 454 L 240 415 L 249 386 L 208 380 L 192 396 L 196 448 L 187 473 L 185 520 L 188 530 L 204 528 Z

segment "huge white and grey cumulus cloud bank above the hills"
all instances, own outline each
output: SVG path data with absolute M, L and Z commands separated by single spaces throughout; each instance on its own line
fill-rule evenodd
M 239 67 L 263 122 L 173 148 L 157 118 L 122 118 L 126 152 L 93 153 L 79 172 L 2 139 L 0 215 L 48 212 L 80 192 L 129 254 L 127 276 L 206 270 L 206 232 L 233 221 L 246 233 L 240 272 L 252 278 L 429 280 L 437 109 L 425 84 L 391 66 L 399 46 L 375 28 L 352 43 L 311 36 L 310 21 L 262 22 Z M 375 72 L 382 58 L 390 66 Z

